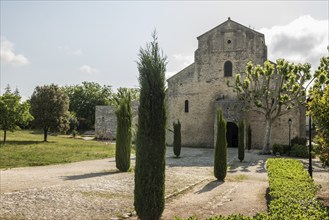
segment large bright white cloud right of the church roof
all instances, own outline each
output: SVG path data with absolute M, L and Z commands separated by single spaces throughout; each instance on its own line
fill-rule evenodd
M 259 31 L 265 34 L 268 58 L 285 58 L 295 63 L 311 63 L 317 68 L 320 58 L 328 55 L 328 20 L 301 16 L 291 23 Z

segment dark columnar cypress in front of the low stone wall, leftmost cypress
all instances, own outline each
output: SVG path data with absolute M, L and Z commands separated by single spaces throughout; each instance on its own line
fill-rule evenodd
M 115 161 L 116 167 L 123 172 L 130 168 L 130 151 L 131 151 L 131 96 L 126 93 L 121 96 L 117 110 L 117 135 Z

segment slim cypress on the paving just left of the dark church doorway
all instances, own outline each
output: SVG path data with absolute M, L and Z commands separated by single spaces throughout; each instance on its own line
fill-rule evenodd
M 217 110 L 217 139 L 215 147 L 214 175 L 224 181 L 227 171 L 226 121 L 221 109 Z

